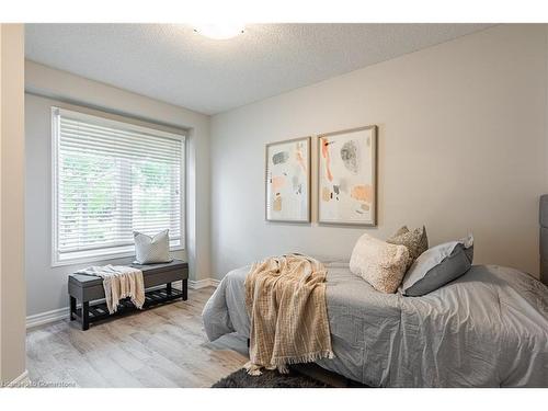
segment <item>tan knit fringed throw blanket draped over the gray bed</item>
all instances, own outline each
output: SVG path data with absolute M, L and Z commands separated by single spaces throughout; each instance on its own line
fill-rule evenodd
M 288 254 L 253 264 L 246 278 L 251 319 L 251 375 L 261 368 L 287 373 L 287 364 L 332 358 L 322 263 Z

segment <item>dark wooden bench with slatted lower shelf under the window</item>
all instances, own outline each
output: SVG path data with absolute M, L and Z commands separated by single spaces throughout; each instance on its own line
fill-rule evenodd
M 152 307 L 178 298 L 187 299 L 189 293 L 189 264 L 181 260 L 173 260 L 171 263 L 161 264 L 132 264 L 130 266 L 142 271 L 145 281 L 145 305 L 144 308 Z M 181 281 L 182 289 L 172 287 L 173 282 Z M 164 287 L 159 287 L 164 285 Z M 68 281 L 68 292 L 70 297 L 70 320 L 78 320 L 82 330 L 88 330 L 90 323 L 103 320 L 109 317 L 118 316 L 135 311 L 136 308 L 129 299 L 119 301 L 118 310 L 111 315 L 104 301 L 103 279 L 101 277 L 82 274 L 71 274 Z M 101 300 L 99 302 L 92 302 Z M 77 302 L 81 307 L 77 307 Z

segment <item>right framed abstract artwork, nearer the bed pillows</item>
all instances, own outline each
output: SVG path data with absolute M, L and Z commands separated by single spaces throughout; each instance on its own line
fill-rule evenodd
M 318 221 L 377 224 L 377 127 L 318 136 Z

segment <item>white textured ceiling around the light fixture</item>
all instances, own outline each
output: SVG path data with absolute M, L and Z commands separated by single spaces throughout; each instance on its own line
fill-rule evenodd
M 447 42 L 487 24 L 254 24 L 214 41 L 189 25 L 26 24 L 26 57 L 205 114 Z

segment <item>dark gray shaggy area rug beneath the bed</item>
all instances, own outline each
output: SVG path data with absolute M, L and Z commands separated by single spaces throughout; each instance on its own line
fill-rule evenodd
M 263 370 L 259 376 L 242 368 L 215 383 L 213 388 L 331 388 L 333 386 L 302 375 L 294 369 L 289 374 Z

